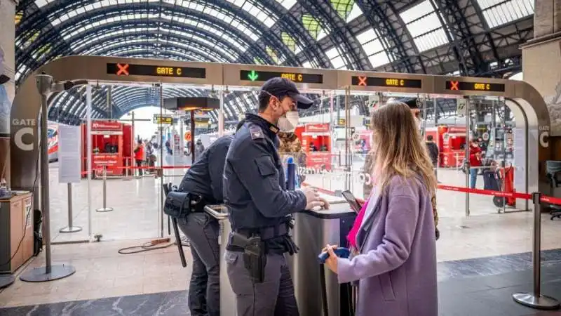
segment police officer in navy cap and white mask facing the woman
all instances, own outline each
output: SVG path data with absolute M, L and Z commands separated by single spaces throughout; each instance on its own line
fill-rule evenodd
M 297 107 L 312 101 L 296 85 L 269 79 L 259 91 L 258 114 L 246 114 L 224 166 L 224 202 L 232 234 L 224 259 L 236 294 L 238 316 L 299 315 L 285 253 L 297 246 L 289 235 L 290 214 L 323 206 L 316 190 L 287 191 L 278 157 L 278 131 L 297 125 Z

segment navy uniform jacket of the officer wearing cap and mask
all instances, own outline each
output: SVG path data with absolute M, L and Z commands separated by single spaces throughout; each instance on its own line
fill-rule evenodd
M 290 213 L 306 207 L 301 191 L 287 191 L 278 157 L 278 127 L 255 114 L 234 136 L 224 166 L 224 202 L 232 228 L 280 225 Z

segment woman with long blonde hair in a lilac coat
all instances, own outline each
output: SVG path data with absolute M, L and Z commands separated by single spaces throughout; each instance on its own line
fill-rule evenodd
M 339 282 L 358 281 L 357 316 L 437 316 L 436 180 L 417 123 L 404 103 L 372 113 L 374 187 L 351 238 L 358 251 L 326 265 Z

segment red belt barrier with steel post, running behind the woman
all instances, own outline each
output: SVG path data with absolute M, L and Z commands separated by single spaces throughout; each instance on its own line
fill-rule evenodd
M 309 186 L 309 183 L 302 183 L 302 186 Z M 454 191 L 454 192 L 464 192 L 473 193 L 476 195 L 492 195 L 494 197 L 511 197 L 515 199 L 528 199 L 532 200 L 534 203 L 534 229 L 533 229 L 533 242 L 532 242 L 532 270 L 533 270 L 533 285 L 534 291 L 532 293 L 515 293 L 513 294 L 513 300 L 516 303 L 520 303 L 529 308 L 536 308 L 540 310 L 556 310 L 560 308 L 560 303 L 557 299 L 545 296 L 541 294 L 541 207 L 539 202 L 547 204 L 561 205 L 561 199 L 557 197 L 548 197 L 542 195 L 541 192 L 534 192 L 532 194 L 519 193 L 519 192 L 501 192 L 493 190 L 480 190 L 480 189 L 470 189 L 468 187 L 457 187 L 454 185 L 438 185 L 438 189 Z M 321 189 L 314 187 L 318 192 L 325 193 L 327 195 L 335 195 L 335 192 L 330 190 Z M 365 201 L 363 199 L 358 199 L 361 204 Z

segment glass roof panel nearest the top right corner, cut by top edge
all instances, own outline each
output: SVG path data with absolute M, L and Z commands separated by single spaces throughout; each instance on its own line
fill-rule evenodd
M 534 14 L 534 0 L 478 0 L 489 27 L 499 27 Z

